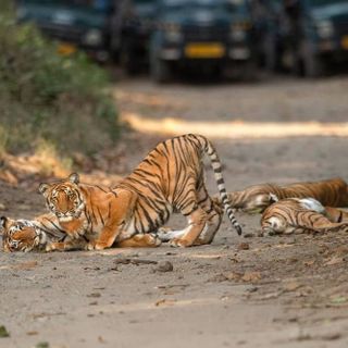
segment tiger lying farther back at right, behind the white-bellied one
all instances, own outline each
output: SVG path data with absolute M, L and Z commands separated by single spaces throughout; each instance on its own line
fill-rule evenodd
M 341 178 L 322 182 L 296 183 L 286 186 L 261 184 L 228 194 L 231 206 L 248 213 L 261 213 L 273 201 L 270 194 L 278 199 L 307 198 L 319 200 L 323 206 L 348 207 L 348 186 Z

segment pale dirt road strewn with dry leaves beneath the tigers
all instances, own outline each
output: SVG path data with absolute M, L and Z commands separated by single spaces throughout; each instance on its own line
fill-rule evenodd
M 127 170 L 120 174 L 187 122 L 187 132 L 199 123 L 214 135 L 228 190 L 262 182 L 347 181 L 348 135 L 339 133 L 348 121 L 347 90 L 347 77 L 165 87 L 121 80 L 115 96 L 124 119 L 145 117 L 158 128 L 151 135 L 144 122 L 145 134 L 128 136 Z M 165 125 L 164 117 L 175 122 Z M 246 137 L 213 132 L 211 122 L 227 127 L 233 121 L 236 128 L 247 126 Z M 310 136 L 313 121 L 331 123 L 337 136 Z M 308 136 L 289 137 L 289 122 Z M 254 136 L 268 123 L 277 128 Z M 0 188 L 5 214 L 45 210 L 35 192 Z M 224 221 L 211 246 L 0 253 L 0 326 L 10 333 L 0 347 L 347 347 L 348 237 L 258 237 L 260 216 L 237 216 L 245 237 Z M 171 221 L 183 224 L 179 216 Z M 172 271 L 163 272 L 165 261 Z

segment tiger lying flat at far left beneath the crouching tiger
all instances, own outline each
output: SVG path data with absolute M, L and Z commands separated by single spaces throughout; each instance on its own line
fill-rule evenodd
M 87 247 L 88 240 L 84 236 L 77 239 L 71 238 L 55 223 L 57 217 L 52 214 L 40 215 L 35 220 L 12 220 L 1 216 L 0 227 L 3 229 L 2 250 L 5 252 L 63 251 L 80 250 Z M 159 238 L 151 234 L 144 234 L 119 241 L 115 247 L 140 248 L 158 247 L 159 245 L 161 245 Z

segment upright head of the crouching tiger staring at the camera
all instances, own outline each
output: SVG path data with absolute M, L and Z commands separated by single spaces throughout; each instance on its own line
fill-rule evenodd
M 78 219 L 84 211 L 85 200 L 78 184 L 79 176 L 73 173 L 66 179 L 51 184 L 42 183 L 39 186 L 48 209 L 61 222 Z

